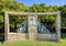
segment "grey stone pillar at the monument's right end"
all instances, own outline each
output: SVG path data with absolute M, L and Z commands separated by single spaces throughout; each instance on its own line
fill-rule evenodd
M 57 42 L 61 41 L 61 12 L 57 12 L 56 16 L 56 32 L 57 32 Z

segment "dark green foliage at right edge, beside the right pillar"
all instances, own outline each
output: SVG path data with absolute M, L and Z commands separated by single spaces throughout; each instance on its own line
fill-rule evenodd
M 58 8 L 62 14 L 62 27 L 66 27 L 66 4 Z

